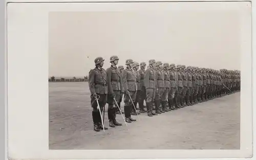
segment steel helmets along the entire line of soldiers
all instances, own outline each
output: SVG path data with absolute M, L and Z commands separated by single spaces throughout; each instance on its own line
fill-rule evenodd
M 115 60 L 119 60 L 118 56 L 111 56 L 110 57 L 110 62 L 113 62 Z M 102 61 L 104 61 L 104 59 L 102 57 L 97 57 L 94 62 L 95 65 L 100 64 Z M 228 73 L 228 74 L 240 74 L 239 70 L 226 70 L 226 69 L 221 69 L 221 70 L 214 70 L 212 68 L 201 68 L 198 66 L 185 66 L 185 65 L 175 65 L 174 63 L 162 63 L 161 61 L 156 61 L 155 59 L 151 59 L 148 61 L 148 67 L 152 66 L 159 66 L 162 65 L 162 67 L 169 69 L 181 69 L 181 70 L 187 70 L 187 71 L 205 71 L 205 72 L 209 72 L 209 73 L 215 73 L 215 74 L 220 74 L 220 73 Z M 135 67 L 135 66 L 145 66 L 146 63 L 145 62 L 141 62 L 140 64 L 138 62 L 133 61 L 132 59 L 127 59 L 125 61 L 125 65 L 130 65 L 131 67 Z M 119 69 L 124 69 L 123 65 L 119 65 L 118 66 Z

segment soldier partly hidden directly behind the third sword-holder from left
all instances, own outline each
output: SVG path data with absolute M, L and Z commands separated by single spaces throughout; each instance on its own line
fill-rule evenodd
M 140 93 L 141 92 L 140 74 L 138 72 L 139 66 L 140 65 L 139 65 L 138 62 L 133 63 L 133 71 L 134 71 L 135 76 L 136 76 L 136 85 L 137 85 L 136 100 L 135 100 L 135 103 L 134 103 L 136 109 L 137 109 L 137 103 L 140 102 L 140 94 L 141 94 Z M 135 116 L 137 115 L 134 107 L 132 107 L 131 115 L 135 115 Z M 138 112 L 138 115 L 140 115 L 140 112 Z

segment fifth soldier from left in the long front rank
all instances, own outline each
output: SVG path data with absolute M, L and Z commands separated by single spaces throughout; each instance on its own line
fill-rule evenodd
M 182 90 L 183 90 L 183 78 L 182 78 L 182 74 L 181 74 L 181 66 L 180 64 L 177 65 L 176 67 L 176 73 L 177 73 L 177 79 L 178 79 L 178 88 L 177 88 L 177 92 L 176 92 L 176 97 L 177 97 L 177 108 L 182 108 L 181 106 L 181 94 L 182 94 Z

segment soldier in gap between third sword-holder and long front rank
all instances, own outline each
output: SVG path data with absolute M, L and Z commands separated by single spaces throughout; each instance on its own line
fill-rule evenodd
M 140 108 L 140 112 L 141 113 L 146 112 L 144 110 L 144 100 L 146 100 L 146 88 L 145 88 L 145 84 L 144 84 L 145 67 L 146 67 L 146 63 L 145 62 L 141 62 L 140 63 L 140 70 L 139 70 L 140 83 L 141 83 L 139 108 Z

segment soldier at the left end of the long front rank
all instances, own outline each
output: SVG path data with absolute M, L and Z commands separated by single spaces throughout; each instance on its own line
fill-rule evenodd
M 155 66 L 156 66 L 156 60 L 151 59 L 148 61 L 148 68 L 145 72 L 144 77 L 144 85 L 146 88 L 146 109 L 147 109 L 147 116 L 152 117 L 153 115 L 157 115 L 153 111 L 153 101 L 155 99 L 156 94 L 156 73 L 155 73 Z

